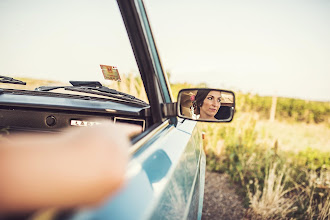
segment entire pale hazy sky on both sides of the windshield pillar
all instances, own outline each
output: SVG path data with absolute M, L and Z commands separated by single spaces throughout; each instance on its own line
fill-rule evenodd
M 113 0 L 32 2 L 0 1 L 0 75 L 101 81 L 100 64 L 138 73 Z M 330 1 L 145 4 L 171 82 L 330 101 Z

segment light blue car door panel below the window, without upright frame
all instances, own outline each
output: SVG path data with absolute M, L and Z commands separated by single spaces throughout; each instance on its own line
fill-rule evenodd
M 184 123 L 186 123 L 183 125 Z M 133 155 L 126 186 L 100 208 L 73 219 L 182 219 L 196 216 L 200 191 L 200 145 L 196 122 L 168 125 Z M 178 126 L 180 127 L 180 126 Z M 184 128 L 184 129 L 182 129 Z M 197 188 L 196 188 L 197 187 Z M 196 201 L 191 202 L 194 199 Z M 191 213 L 189 208 L 193 207 Z M 196 217 L 195 217 L 196 218 Z

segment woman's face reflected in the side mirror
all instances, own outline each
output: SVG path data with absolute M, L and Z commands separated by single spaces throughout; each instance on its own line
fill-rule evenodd
M 203 101 L 203 105 L 200 107 L 200 119 L 214 120 L 214 116 L 217 114 L 221 106 L 221 92 L 210 91 Z

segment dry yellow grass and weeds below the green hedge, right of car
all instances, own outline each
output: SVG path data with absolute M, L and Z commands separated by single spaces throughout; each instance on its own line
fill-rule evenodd
M 323 159 L 330 152 L 330 128 L 271 123 L 255 113 L 235 117 L 230 124 L 204 124 L 207 162 L 247 189 L 247 217 L 329 218 L 330 164 Z

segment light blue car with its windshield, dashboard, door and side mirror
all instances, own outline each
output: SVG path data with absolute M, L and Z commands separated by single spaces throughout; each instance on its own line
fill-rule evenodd
M 142 0 L 13 0 L 0 6 L 3 135 L 61 132 L 98 119 L 142 128 L 131 140 L 127 184 L 115 197 L 98 208 L 57 210 L 47 218 L 201 219 L 205 154 L 198 121 L 230 122 L 234 94 L 212 89 L 222 96 L 212 111 L 225 112 L 214 120 L 193 109 L 200 89 L 182 90 L 174 102 Z M 125 73 L 140 77 L 145 98 L 121 91 Z M 30 89 L 24 77 L 51 81 Z M 42 211 L 24 216 L 44 218 Z

